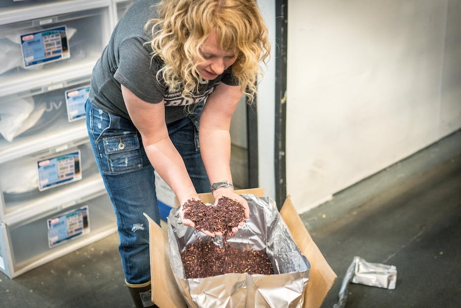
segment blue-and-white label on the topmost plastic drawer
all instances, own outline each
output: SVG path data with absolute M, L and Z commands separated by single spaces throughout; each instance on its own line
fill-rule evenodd
M 21 51 L 26 68 L 69 58 L 66 26 L 21 35 Z

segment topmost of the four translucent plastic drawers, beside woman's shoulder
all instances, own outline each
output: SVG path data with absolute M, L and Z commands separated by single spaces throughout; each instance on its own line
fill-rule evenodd
M 73 74 L 90 75 L 108 40 L 108 11 L 108 7 L 102 7 L 0 25 L 0 93 L 14 94 L 44 82 L 60 82 Z M 66 28 L 67 44 L 64 39 L 60 41 L 62 50 L 67 45 L 68 53 L 62 54 L 66 58 L 26 67 L 21 35 L 62 26 Z

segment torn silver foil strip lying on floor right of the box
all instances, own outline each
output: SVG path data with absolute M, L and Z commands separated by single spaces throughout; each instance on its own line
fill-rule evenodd
M 333 308 L 343 308 L 346 305 L 349 282 L 393 290 L 396 281 L 397 268 L 394 265 L 370 263 L 355 256 L 342 280 L 338 294 L 339 300 L 333 305 Z

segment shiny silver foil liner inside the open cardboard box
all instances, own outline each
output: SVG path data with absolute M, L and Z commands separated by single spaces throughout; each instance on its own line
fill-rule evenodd
M 241 249 L 266 250 L 274 275 L 225 275 L 186 279 L 180 252 L 199 239 L 223 245 L 221 237 L 211 238 L 184 226 L 179 208 L 168 216 L 171 268 L 189 307 L 302 307 L 309 279 L 310 264 L 294 242 L 280 216 L 275 201 L 254 195 L 241 195 L 250 207 L 250 219 L 228 239 Z

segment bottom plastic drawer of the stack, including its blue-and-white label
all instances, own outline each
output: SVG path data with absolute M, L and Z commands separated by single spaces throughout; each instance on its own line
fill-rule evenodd
M 107 194 L 18 224 L 0 224 L 0 270 L 13 278 L 116 231 Z M 1 250 L 0 250 L 1 253 Z

